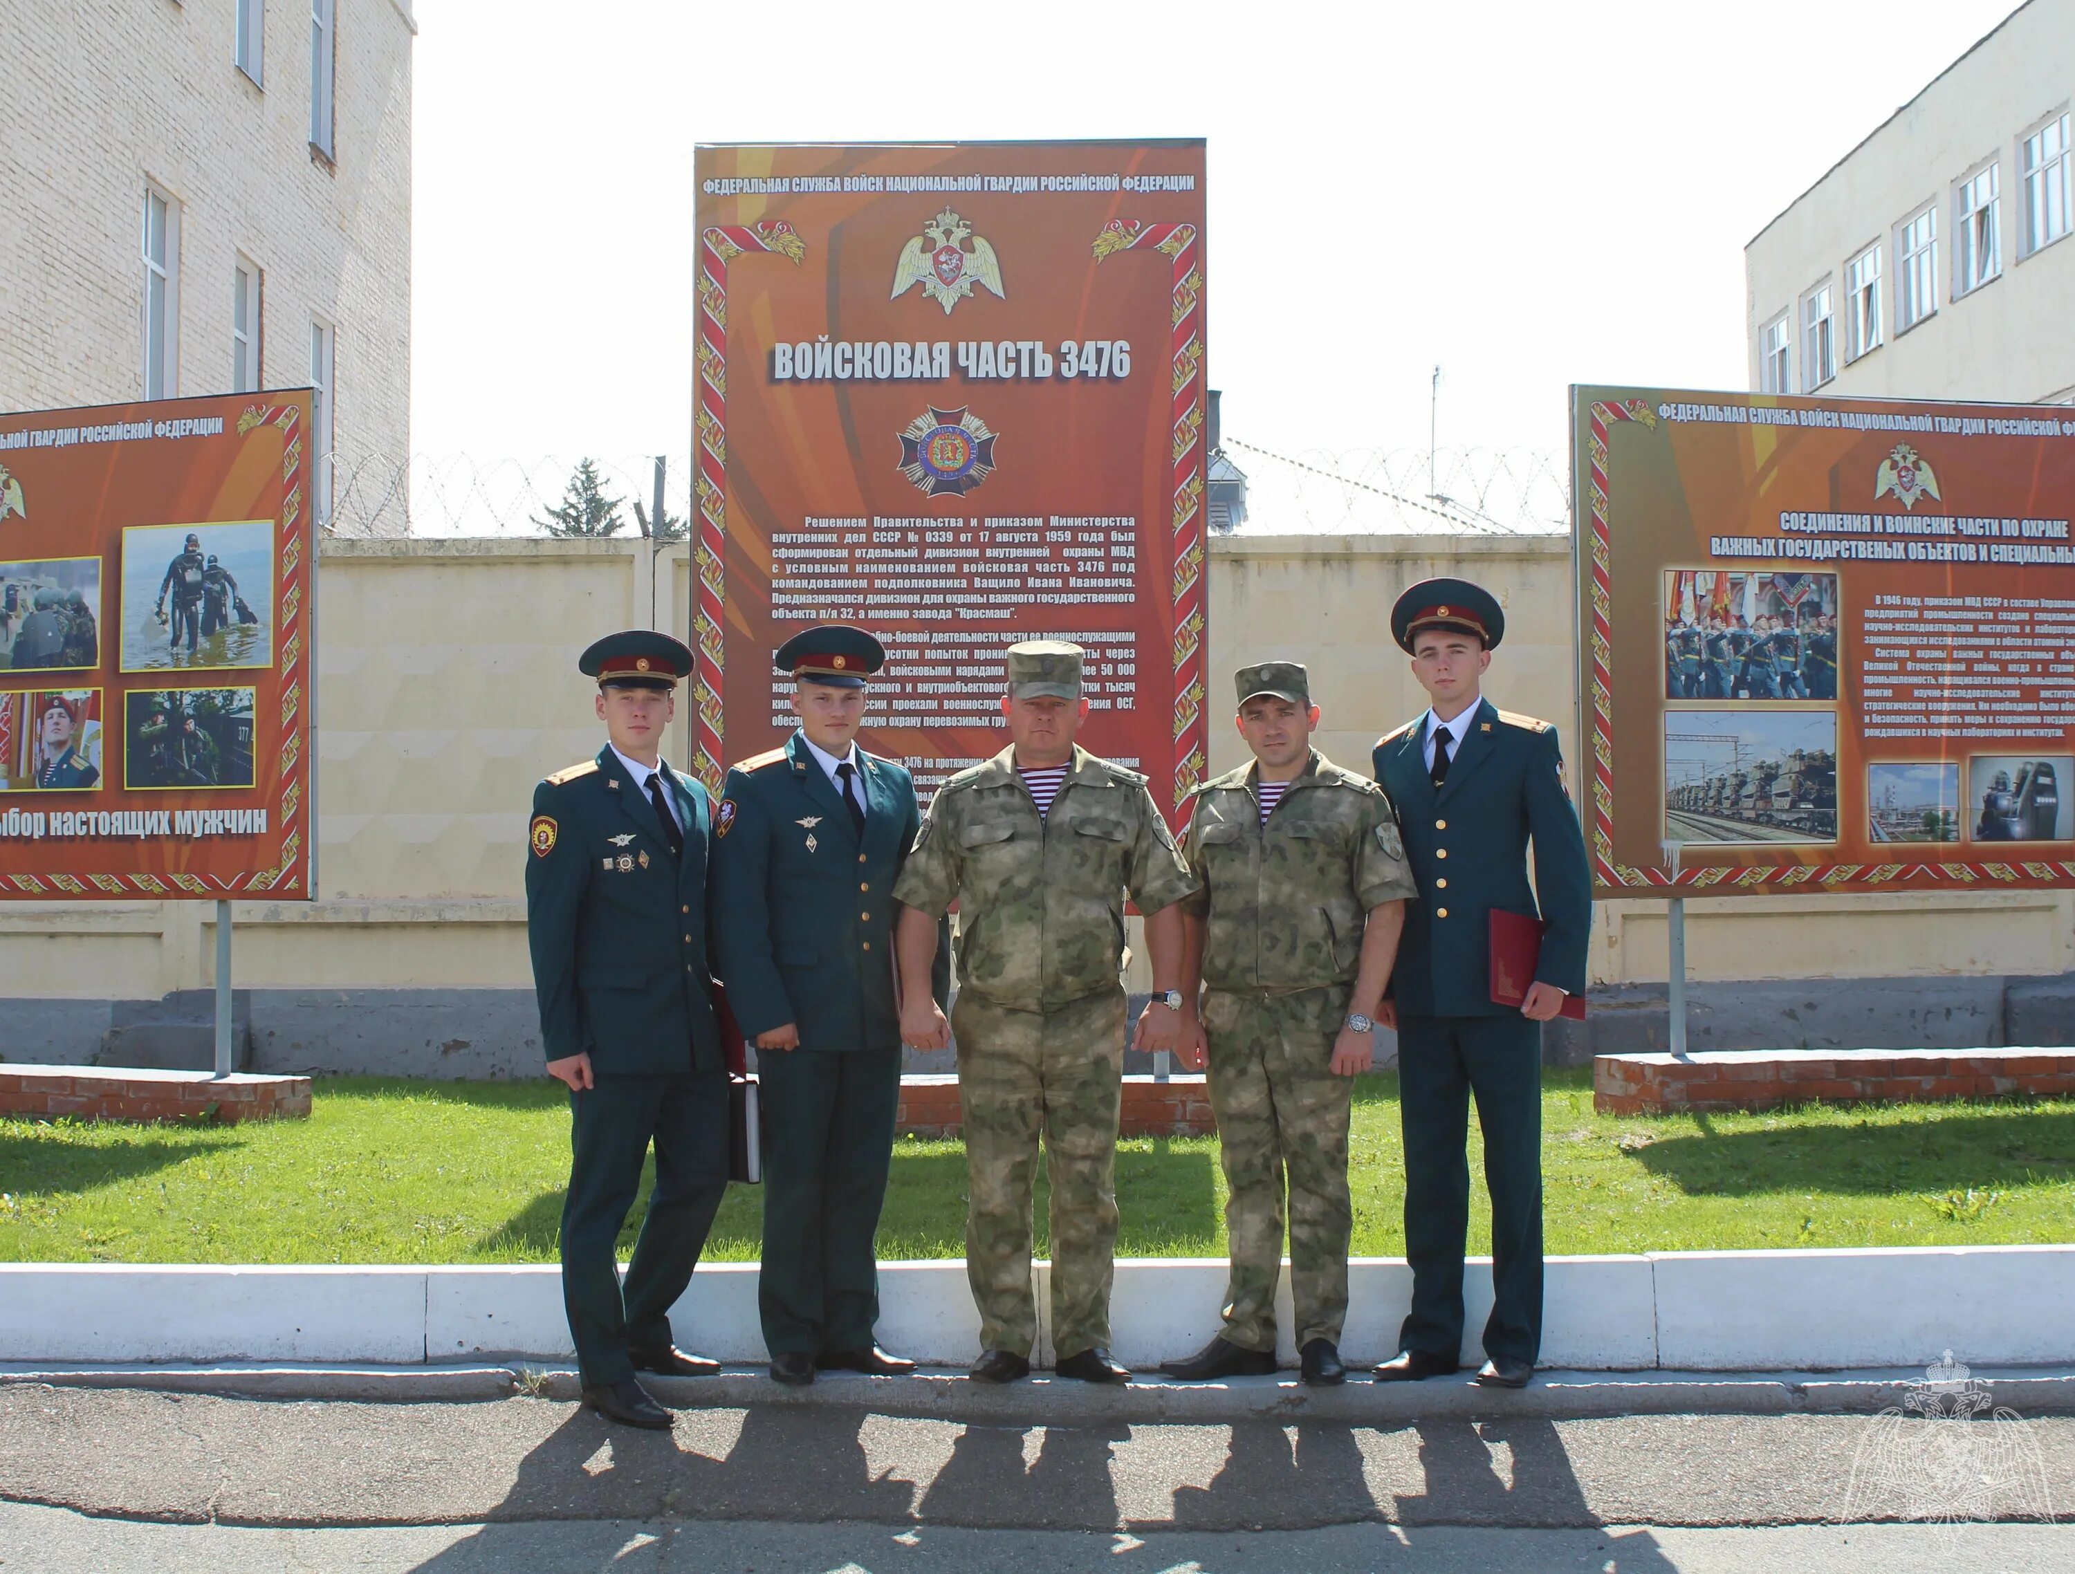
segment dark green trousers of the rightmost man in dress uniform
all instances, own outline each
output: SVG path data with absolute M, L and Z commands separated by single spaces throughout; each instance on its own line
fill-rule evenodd
M 1542 1024 L 1525 1016 L 1399 1020 L 1405 1130 L 1405 1259 L 1413 1309 L 1401 1350 L 1463 1348 L 1463 1238 L 1469 1232 L 1469 1099 L 1484 1130 L 1492 1194 L 1488 1356 L 1542 1350 Z

